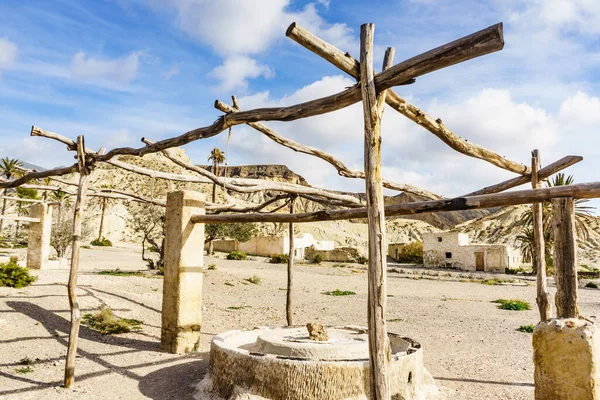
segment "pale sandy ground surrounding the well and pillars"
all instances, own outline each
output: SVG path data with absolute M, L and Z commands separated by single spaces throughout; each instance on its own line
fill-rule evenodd
M 285 265 L 211 257 L 205 263 L 217 269 L 207 271 L 204 280 L 201 352 L 176 356 L 159 351 L 162 280 L 96 273 L 144 269 L 139 253 L 132 248 L 83 249 L 77 291 L 83 312 L 110 306 L 117 315 L 141 319 L 144 325 L 142 332 L 117 336 L 82 326 L 73 390 L 61 387 L 70 318 L 68 271 L 40 271 L 32 286 L 0 288 L 0 398 L 192 398 L 207 371 L 213 335 L 285 323 Z M 253 275 L 261 278 L 260 284 L 245 281 Z M 531 335 L 516 328 L 535 323 L 537 312 L 499 310 L 491 301 L 519 298 L 534 305 L 535 288 L 458 281 L 470 274 L 453 274 L 455 280 L 418 276 L 389 274 L 388 329 L 424 346 L 426 367 L 438 384 L 453 389 L 455 399 L 532 399 Z M 299 265 L 295 285 L 295 323 L 366 324 L 364 266 Z M 322 294 L 335 289 L 356 295 Z M 582 289 L 580 305 L 584 315 L 597 315 L 600 291 Z M 240 306 L 244 308 L 229 308 Z M 33 372 L 17 373 L 25 357 L 35 361 Z

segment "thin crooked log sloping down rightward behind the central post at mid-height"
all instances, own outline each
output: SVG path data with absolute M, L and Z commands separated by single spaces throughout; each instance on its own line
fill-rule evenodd
M 228 114 L 234 113 L 234 112 L 239 112 L 238 109 L 230 106 L 229 104 L 225 104 L 221 101 L 218 101 L 218 100 L 217 100 L 217 102 L 215 102 L 215 107 L 225 113 L 228 113 Z M 247 125 L 251 126 L 252 128 L 254 128 L 257 131 L 264 134 L 269 139 L 273 140 L 274 142 L 276 142 L 282 146 L 285 146 L 285 147 L 292 149 L 294 151 L 297 151 L 299 153 L 308 154 L 308 155 L 315 156 L 315 157 L 322 159 L 323 161 L 331 164 L 338 171 L 338 174 L 340 176 L 343 176 L 345 178 L 365 179 L 365 173 L 363 171 L 351 170 L 343 162 L 341 162 L 340 160 L 335 158 L 333 155 L 331 155 L 327 152 L 324 152 L 323 150 L 319 150 L 315 147 L 307 146 L 305 144 L 285 138 L 260 122 L 250 122 Z M 408 185 L 408 184 L 401 184 L 401 183 L 384 180 L 383 186 L 388 189 L 391 189 L 391 190 L 413 193 L 413 194 L 423 196 L 425 198 L 432 199 L 432 200 L 441 198 L 441 196 L 438 196 L 437 194 L 431 193 L 427 190 L 423 190 L 423 189 L 420 189 L 420 188 L 417 188 L 415 186 Z

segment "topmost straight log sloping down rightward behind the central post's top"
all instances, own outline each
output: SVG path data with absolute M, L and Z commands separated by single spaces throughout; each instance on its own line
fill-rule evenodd
M 500 26 L 499 29 L 502 29 L 502 27 Z M 295 22 L 290 25 L 286 35 L 301 46 L 324 58 L 326 61 L 329 61 L 342 71 L 356 79 L 359 79 L 360 63 L 350 54 L 344 53 L 337 47 L 319 39 Z M 436 119 L 427 115 L 421 109 L 400 97 L 400 95 L 393 90 L 388 90 L 386 102 L 390 107 L 400 112 L 400 114 L 421 125 L 440 138 L 448 146 L 462 154 L 485 160 L 500 168 L 504 168 L 518 174 L 529 172 L 526 165 L 508 160 L 491 150 L 478 146 L 474 143 L 467 142 L 466 140 L 457 136 L 442 123 L 441 119 Z

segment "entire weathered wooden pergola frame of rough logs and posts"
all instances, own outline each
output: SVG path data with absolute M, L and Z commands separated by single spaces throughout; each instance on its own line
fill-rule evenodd
M 69 150 L 77 151 L 78 155 L 78 162 L 71 166 L 55 168 L 47 171 L 31 171 L 25 176 L 14 181 L 0 182 L 0 188 L 9 188 L 28 185 L 28 183 L 32 181 L 45 177 L 52 177 L 58 181 L 57 177 L 59 176 L 77 172 L 80 174 L 80 181 L 77 185 L 77 204 L 75 207 L 76 223 L 74 224 L 73 232 L 73 261 L 71 264 L 71 274 L 68 285 L 69 300 L 72 309 L 72 328 L 69 339 L 67 368 L 65 370 L 65 386 L 69 387 L 74 382 L 74 356 L 76 352 L 77 328 L 79 323 L 77 302 L 74 292 L 78 269 L 78 252 L 75 250 L 79 248 L 78 241 L 81 227 L 80 222 L 82 204 L 85 202 L 86 194 L 89 193 L 89 195 L 129 198 L 136 201 L 164 206 L 164 203 L 159 200 L 143 198 L 116 189 L 110 190 L 112 193 L 108 193 L 108 191 L 105 190 L 93 190 L 92 188 L 87 187 L 89 174 L 93 171 L 93 168 L 97 163 L 108 163 L 131 172 L 159 179 L 196 183 L 216 183 L 223 186 L 227 190 L 240 193 L 251 193 L 265 190 L 282 193 L 265 201 L 262 204 L 256 204 L 249 207 L 238 207 L 235 204 L 218 205 L 208 203 L 206 208 L 211 210 L 212 213 L 207 215 L 192 216 L 190 221 L 193 223 L 289 223 L 290 238 L 293 239 L 294 223 L 367 218 L 369 226 L 368 327 L 371 366 L 369 390 L 371 398 L 374 399 L 390 398 L 388 373 L 390 349 L 387 340 L 385 322 L 387 301 L 385 259 L 386 216 L 528 204 L 560 198 L 561 200 L 559 201 L 561 202 L 562 211 L 557 211 L 556 217 L 560 218 L 560 216 L 564 217 L 564 215 L 569 212 L 569 207 L 572 208 L 572 201 L 569 199 L 600 197 L 600 183 L 598 182 L 566 187 L 553 187 L 545 189 L 540 188 L 539 183 L 541 180 L 581 161 L 581 157 L 567 156 L 541 169 L 539 165 L 538 154 L 534 154 L 531 167 L 506 159 L 491 150 L 485 149 L 460 138 L 448 127 L 446 127 L 442 123 L 441 119 L 427 115 L 421 109 L 410 104 L 392 90 L 393 86 L 412 84 L 415 82 L 415 79 L 430 72 L 501 50 L 504 46 L 501 23 L 483 29 L 474 34 L 465 36 L 454 42 L 445 44 L 395 65 L 392 65 L 394 51 L 392 48 L 390 48 L 386 51 L 385 60 L 383 63 L 383 71 L 378 74 L 374 72 L 373 68 L 373 24 L 365 24 L 361 27 L 360 62 L 354 59 L 348 53 L 344 53 L 343 51 L 335 48 L 333 45 L 317 38 L 296 23 L 290 25 L 286 35 L 306 49 L 314 52 L 318 56 L 324 58 L 326 61 L 332 63 L 342 71 L 354 77 L 357 80 L 357 84 L 340 93 L 288 107 L 261 108 L 241 111 L 235 97 L 233 97 L 233 104 L 231 106 L 217 100 L 215 102 L 215 107 L 220 111 L 223 111 L 225 114 L 219 117 L 211 125 L 193 129 L 180 136 L 164 139 L 158 142 L 152 142 L 149 139 L 143 138 L 142 141 L 145 144 L 143 147 L 115 148 L 107 153 L 103 153 L 102 151 L 95 152 L 85 148 L 83 144 L 83 137 L 79 137 L 77 141 L 73 141 L 60 134 L 49 132 L 35 126 L 32 127 L 32 136 L 42 136 L 57 140 L 65 144 Z M 364 171 L 350 170 L 343 162 L 335 158 L 333 155 L 287 139 L 262 123 L 263 121 L 292 121 L 300 118 L 321 115 L 339 110 L 359 101 L 362 101 L 364 114 Z M 452 149 L 469 157 L 475 157 L 484 160 L 499 168 L 516 173 L 518 176 L 454 199 L 446 199 L 427 190 L 416 188 L 412 185 L 383 179 L 381 176 L 382 166 L 380 126 L 385 104 L 388 104 L 392 109 L 401 113 L 415 123 L 423 126 Z M 235 125 L 240 124 L 250 125 L 255 130 L 264 134 L 271 140 L 281 144 L 282 146 L 328 162 L 334 168 L 336 168 L 341 176 L 347 178 L 364 179 L 366 188 L 366 204 L 358 197 L 321 188 L 258 179 L 221 178 L 212 174 L 210 171 L 206 171 L 195 165 L 185 163 L 174 157 L 169 152 L 169 149 L 172 147 L 182 146 L 196 140 L 215 136 Z M 182 175 L 158 172 L 134 166 L 117 159 L 120 155 L 143 156 L 145 154 L 157 152 L 161 152 L 169 160 L 185 168 L 186 170 L 193 172 L 194 174 Z M 505 192 L 507 189 L 529 182 L 531 182 L 533 187 L 531 190 Z M 414 193 L 419 196 L 423 196 L 427 200 L 414 203 L 384 206 L 384 187 L 391 190 Z M 320 204 L 326 206 L 336 207 L 337 209 L 326 209 L 313 213 L 296 214 L 293 212 L 293 199 L 297 196 L 319 202 Z M 289 214 L 260 212 L 266 207 L 274 206 L 277 204 L 277 202 L 286 199 L 288 199 L 287 202 L 282 206 L 277 206 L 275 210 L 279 210 L 286 204 L 290 204 Z M 534 210 L 537 209 L 538 207 L 534 208 Z M 229 212 L 234 212 L 235 214 L 230 214 Z M 539 211 L 535 212 L 535 215 L 537 218 L 539 218 Z M 558 229 L 561 232 L 573 229 L 573 221 L 571 219 L 565 217 L 562 218 L 562 221 L 562 225 L 560 226 L 566 225 L 567 227 L 555 227 L 555 229 Z M 538 228 L 537 225 L 536 228 Z M 538 249 L 536 251 L 536 257 L 541 256 L 541 251 L 539 250 L 541 239 L 538 230 L 539 229 L 536 229 L 536 249 Z M 574 241 L 569 240 L 570 236 L 566 234 L 563 236 L 564 240 L 562 240 L 560 243 L 563 243 L 564 245 L 562 246 L 559 256 L 563 257 L 562 255 L 564 255 L 564 260 L 559 262 L 559 265 L 562 266 L 561 278 L 559 282 L 568 282 L 569 287 L 572 289 L 572 270 L 575 268 L 572 262 Z M 288 282 L 288 305 L 286 307 L 288 322 L 290 323 L 292 321 L 292 265 L 293 253 L 290 253 L 290 264 L 288 265 L 290 279 Z M 546 296 L 546 303 L 542 304 L 543 299 L 540 300 L 539 295 L 538 304 L 540 304 L 542 319 L 546 319 L 549 317 L 549 313 L 546 311 L 542 312 L 542 307 L 544 310 L 547 310 L 547 304 L 549 304 L 549 302 L 547 301 L 547 289 L 545 289 L 546 277 L 542 272 L 540 272 L 543 270 L 544 268 L 538 268 L 538 287 L 541 293 Z M 567 272 L 564 272 L 563 274 L 563 271 Z M 568 273 L 570 273 L 570 275 L 568 275 Z M 576 314 L 576 309 L 574 309 L 572 306 L 573 302 L 576 304 L 576 296 L 573 300 L 572 290 L 569 290 L 565 293 L 566 294 L 563 297 L 567 300 L 561 298 L 561 305 L 564 305 L 561 310 L 568 308 L 569 311 L 565 311 L 565 315 Z

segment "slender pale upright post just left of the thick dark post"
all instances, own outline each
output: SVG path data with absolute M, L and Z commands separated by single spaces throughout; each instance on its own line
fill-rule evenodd
M 531 153 L 531 187 L 539 189 L 542 183 L 539 181 L 540 153 L 533 150 Z M 544 238 L 544 222 L 542 215 L 542 203 L 531 205 L 533 213 L 533 269 L 537 275 L 537 297 L 536 302 L 540 310 L 540 321 L 551 318 L 550 293 L 548 293 L 548 282 L 546 280 L 546 248 Z

